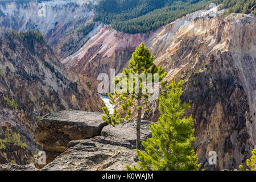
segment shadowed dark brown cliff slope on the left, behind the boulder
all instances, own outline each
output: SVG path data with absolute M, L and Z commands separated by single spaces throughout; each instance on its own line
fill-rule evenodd
M 37 34 L 16 34 L 1 28 L 0 73 L 0 131 L 19 131 L 30 154 L 40 148 L 33 139 L 36 121 L 43 115 L 66 109 L 101 111 L 104 105 L 82 78 L 64 68 Z M 0 135 L 5 138 L 2 132 Z M 13 152 L 18 159 L 26 151 Z M 0 163 L 5 160 L 0 159 Z

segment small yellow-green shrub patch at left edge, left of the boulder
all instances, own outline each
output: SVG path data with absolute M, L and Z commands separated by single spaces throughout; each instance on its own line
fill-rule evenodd
M 6 148 L 7 146 L 15 145 L 20 146 L 22 148 L 27 148 L 26 143 L 22 143 L 20 141 L 20 135 L 19 133 L 14 133 L 13 135 L 8 131 L 5 130 L 5 139 L 0 139 L 0 149 Z

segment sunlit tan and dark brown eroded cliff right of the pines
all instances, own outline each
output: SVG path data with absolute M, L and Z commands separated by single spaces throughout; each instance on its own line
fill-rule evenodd
M 209 151 L 218 155 L 217 169 L 238 168 L 256 143 L 255 16 L 240 14 L 176 20 L 147 42 L 155 63 L 184 79 L 183 101 L 195 118 L 195 149 L 210 167 Z M 155 113 L 147 119 L 158 118 Z

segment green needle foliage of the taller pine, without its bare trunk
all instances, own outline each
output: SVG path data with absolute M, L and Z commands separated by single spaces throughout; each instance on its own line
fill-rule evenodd
M 144 43 L 141 43 L 139 47 L 136 48 L 133 53 L 132 59 L 129 61 L 128 68 L 123 68 L 122 76 L 117 76 L 113 79 L 114 85 L 127 85 L 126 88 L 122 90 L 114 90 L 114 96 L 108 94 L 110 98 L 110 104 L 116 105 L 121 102 L 121 109 L 126 111 L 127 115 L 125 118 L 119 117 L 118 110 L 114 110 L 114 114 L 110 115 L 107 107 L 102 107 L 104 115 L 102 119 L 109 123 L 109 125 L 118 125 L 119 122 L 130 119 L 131 110 L 130 107 L 134 105 L 135 101 L 141 101 L 142 99 L 147 100 L 148 96 L 152 95 L 150 93 L 142 92 L 142 85 L 146 84 L 143 80 L 133 79 L 132 82 L 129 80 L 129 74 L 138 74 L 141 75 L 144 73 L 146 76 L 148 73 L 152 74 L 152 80 L 154 81 L 154 74 L 159 74 L 159 81 L 162 81 L 167 73 L 163 71 L 162 66 L 156 67 L 153 63 L 155 57 L 150 54 L 148 48 L 145 47 Z M 137 86 L 135 82 L 138 82 Z M 133 85 L 133 86 L 131 86 Z M 133 90 L 129 90 L 133 88 Z M 139 93 L 136 93 L 136 90 L 139 90 Z M 142 105 L 146 105 L 148 102 L 143 102 L 138 104 L 137 109 L 141 110 Z

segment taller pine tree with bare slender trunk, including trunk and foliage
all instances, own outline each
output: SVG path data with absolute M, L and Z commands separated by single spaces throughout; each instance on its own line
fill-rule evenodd
M 113 84 L 115 86 L 121 85 L 121 89 L 114 89 L 114 96 L 110 93 L 108 94 L 111 100 L 110 104 L 119 104 L 121 107 L 119 107 L 119 109 L 114 109 L 114 113 L 112 115 L 110 115 L 110 111 L 107 107 L 102 107 L 102 110 L 105 114 L 102 116 L 102 119 L 109 125 L 115 126 L 122 121 L 130 122 L 137 118 L 136 148 L 141 146 L 141 119 L 142 109 L 144 109 L 142 106 L 145 106 L 146 108 L 148 104 L 148 98 L 152 96 L 150 89 L 148 89 L 147 86 L 144 86 L 147 81 L 149 81 L 147 80 L 148 74 L 152 75 L 152 82 L 155 82 L 156 75 L 158 76 L 158 82 L 162 81 L 163 78 L 167 75 L 161 66 L 156 67 L 156 65 L 153 63 L 154 59 L 155 57 L 151 55 L 148 48 L 146 48 L 142 42 L 141 45 L 137 47 L 133 53 L 132 59 L 129 61 L 128 68 L 123 68 L 122 76 L 117 76 L 113 80 Z M 144 74 L 146 76 L 146 80 L 143 80 L 140 77 L 134 77 L 133 80 L 130 81 L 130 74 Z M 138 84 L 135 84 L 136 82 Z M 137 112 L 135 113 L 135 117 L 131 118 L 131 106 L 134 106 L 135 102 L 137 102 Z M 120 111 L 124 111 L 126 113 L 125 118 L 120 116 Z M 149 110 L 146 109 L 146 111 Z

